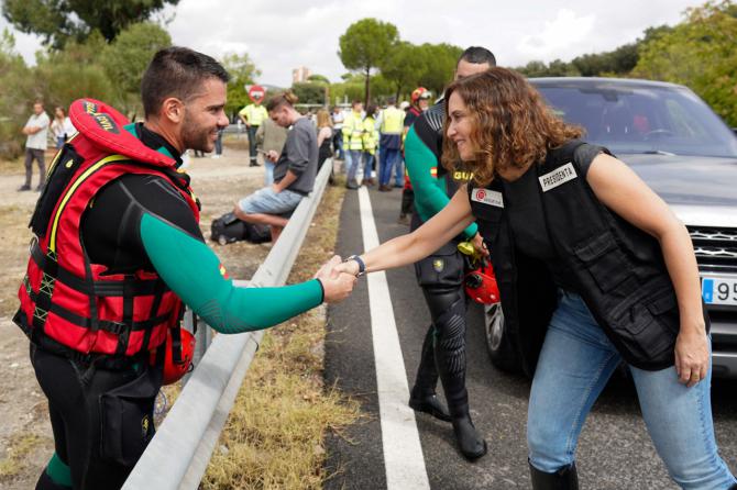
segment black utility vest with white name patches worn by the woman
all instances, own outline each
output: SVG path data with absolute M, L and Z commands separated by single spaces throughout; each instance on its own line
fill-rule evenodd
M 647 370 L 673 365 L 679 310 L 660 244 L 608 210 L 588 186 L 573 141 L 535 165 L 544 222 L 557 259 L 572 272 L 594 319 L 630 365 Z M 505 182 L 469 185 L 469 200 L 484 237 L 502 296 L 505 326 L 525 371 L 535 371 L 557 308 L 557 287 L 544 263 L 525 256 L 505 215 Z M 704 309 L 708 331 L 710 322 Z

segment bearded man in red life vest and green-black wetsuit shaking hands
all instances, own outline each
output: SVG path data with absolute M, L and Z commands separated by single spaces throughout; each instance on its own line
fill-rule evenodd
M 120 488 L 153 436 L 163 346 L 182 303 L 220 333 L 266 328 L 323 301 L 354 278 L 238 288 L 205 244 L 198 202 L 176 168 L 187 149 L 211 152 L 228 73 L 182 47 L 158 52 L 142 80 L 145 122 L 102 102 L 73 104 L 79 134 L 52 163 L 36 204 L 15 323 L 48 398 L 55 454 L 37 489 Z

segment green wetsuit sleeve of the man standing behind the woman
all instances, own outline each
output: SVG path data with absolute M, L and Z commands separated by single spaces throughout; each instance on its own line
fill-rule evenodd
M 405 165 L 415 190 L 417 213 L 424 222 L 428 221 L 450 202 L 450 198 L 446 191 L 446 182 L 432 175 L 432 168 L 440 165 L 438 158 L 420 140 L 414 126 L 409 129 L 405 140 Z M 477 230 L 476 223 L 471 223 L 463 234 L 466 238 L 472 238 Z

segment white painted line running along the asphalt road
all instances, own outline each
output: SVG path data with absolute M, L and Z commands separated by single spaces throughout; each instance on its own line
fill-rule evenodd
M 359 204 L 363 246 L 367 250 L 378 245 L 378 234 L 371 209 L 371 199 L 365 187 L 359 189 Z M 376 359 L 386 488 L 388 490 L 429 489 L 430 482 L 425 468 L 415 412 L 407 405 L 409 388 L 386 274 L 370 274 L 366 280 L 374 358 Z

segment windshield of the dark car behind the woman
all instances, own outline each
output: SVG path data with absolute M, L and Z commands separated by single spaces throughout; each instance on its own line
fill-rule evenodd
M 586 141 L 615 154 L 737 157 L 735 134 L 689 89 L 614 83 L 537 88 L 560 116 L 586 130 Z

